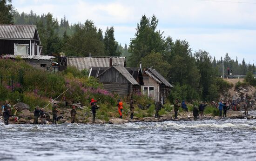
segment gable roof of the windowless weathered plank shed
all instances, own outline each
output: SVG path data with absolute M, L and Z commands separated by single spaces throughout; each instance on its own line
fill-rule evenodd
M 122 74 L 122 76 L 124 76 L 132 85 L 139 85 L 139 83 L 134 79 L 134 77 L 121 64 L 114 64 L 112 67 L 114 67 L 120 74 Z M 110 69 L 112 67 L 109 67 L 108 69 Z M 104 72 L 99 74 L 96 78 L 98 78 L 101 75 L 103 75 L 104 73 L 106 73 L 108 71 L 108 69 L 106 69 Z

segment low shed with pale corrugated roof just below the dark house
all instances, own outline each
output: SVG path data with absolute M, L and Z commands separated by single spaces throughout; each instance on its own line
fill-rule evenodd
M 22 59 L 29 63 L 32 67 L 38 69 L 51 70 L 54 56 L 48 55 L 3 55 L 5 59 Z

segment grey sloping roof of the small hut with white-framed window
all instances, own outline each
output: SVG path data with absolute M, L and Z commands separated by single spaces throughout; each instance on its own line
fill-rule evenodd
M 160 73 L 158 73 L 155 69 L 147 68 L 143 73 L 148 74 L 151 78 L 157 81 L 160 84 L 164 84 L 167 87 L 173 87 Z

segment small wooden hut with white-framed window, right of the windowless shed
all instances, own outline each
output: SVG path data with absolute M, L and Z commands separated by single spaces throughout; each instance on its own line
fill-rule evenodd
M 173 86 L 152 68 L 145 69 L 142 76 L 144 81 L 144 86 L 141 86 L 142 94 L 152 97 L 155 101 L 162 101 L 164 103 Z

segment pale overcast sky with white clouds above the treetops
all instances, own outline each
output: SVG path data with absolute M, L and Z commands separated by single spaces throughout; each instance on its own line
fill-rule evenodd
M 256 64 L 256 0 L 13 0 L 18 12 L 66 15 L 69 23 L 93 20 L 105 31 L 114 26 L 122 46 L 135 36 L 141 16 L 153 14 L 158 29 L 173 40 L 189 41 L 193 51 L 206 50 L 216 59 L 229 53 Z

